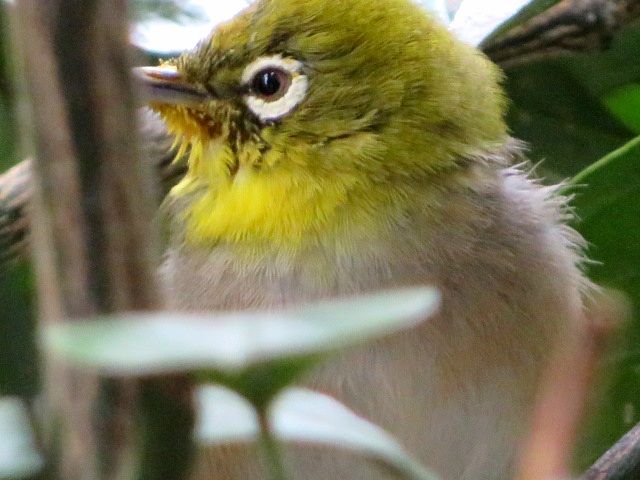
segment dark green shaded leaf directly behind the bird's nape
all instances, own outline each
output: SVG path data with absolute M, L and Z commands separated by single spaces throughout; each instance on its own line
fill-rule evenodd
M 542 161 L 553 180 L 575 175 L 634 137 L 568 71 L 567 61 L 514 67 L 506 81 L 512 134 L 529 144 L 530 159 Z

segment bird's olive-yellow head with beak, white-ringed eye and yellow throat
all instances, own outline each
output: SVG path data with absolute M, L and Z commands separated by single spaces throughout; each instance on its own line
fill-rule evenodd
M 257 0 L 138 75 L 190 152 L 172 196 L 200 244 L 375 222 L 506 139 L 497 69 L 411 0 Z

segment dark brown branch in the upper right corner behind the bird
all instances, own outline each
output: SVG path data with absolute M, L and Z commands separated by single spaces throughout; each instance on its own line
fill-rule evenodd
M 562 0 L 482 46 L 503 67 L 603 49 L 620 28 L 640 17 L 640 0 Z

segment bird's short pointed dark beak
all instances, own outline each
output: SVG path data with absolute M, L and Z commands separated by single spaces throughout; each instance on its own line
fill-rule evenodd
M 136 67 L 133 76 L 142 86 L 144 100 L 150 103 L 196 106 L 212 97 L 202 87 L 187 82 L 173 66 Z

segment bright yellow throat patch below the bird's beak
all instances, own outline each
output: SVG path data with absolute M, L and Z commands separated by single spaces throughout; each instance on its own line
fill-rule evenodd
M 188 155 L 188 172 L 170 198 L 188 199 L 182 220 L 189 244 L 268 243 L 299 250 L 318 236 L 335 234 L 347 213 L 351 221 L 374 227 L 379 223 L 374 206 L 394 203 L 387 193 L 368 189 L 364 202 L 354 201 L 363 191 L 361 176 L 308 169 L 310 146 L 296 151 L 289 145 L 285 153 L 272 144 L 264 151 L 255 138 L 238 141 L 234 151 L 233 132 L 219 131 L 212 138 L 193 112 L 156 109 L 176 135 L 177 156 Z M 371 208 L 362 208 L 363 203 Z

